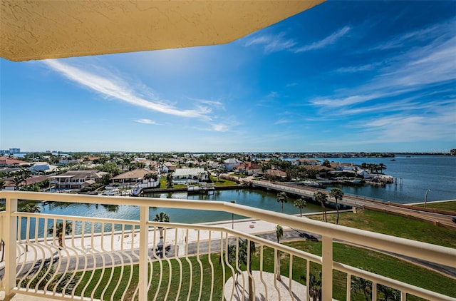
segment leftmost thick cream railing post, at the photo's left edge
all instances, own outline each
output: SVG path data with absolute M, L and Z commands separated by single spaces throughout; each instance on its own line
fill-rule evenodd
M 16 287 L 16 238 L 17 218 L 11 216 L 17 211 L 17 199 L 6 198 L 6 217 L 4 228 L 5 252 L 5 297 L 6 300 L 14 296 Z

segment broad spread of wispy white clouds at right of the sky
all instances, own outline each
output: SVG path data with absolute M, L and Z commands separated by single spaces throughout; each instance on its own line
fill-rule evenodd
M 383 61 L 336 69 L 339 73 L 355 72 L 375 66 L 375 73 L 366 73 L 372 78 L 359 86 L 312 98 L 311 106 L 316 108 L 313 118 L 344 120 L 341 126 L 357 133 L 361 144 L 454 140 L 456 37 L 447 34 L 451 30 L 445 23 L 414 31 L 418 37 L 413 37 L 413 33 L 393 37 L 385 43 L 401 41 L 400 54 L 387 52 Z M 412 39 L 431 40 L 423 46 L 407 44 Z

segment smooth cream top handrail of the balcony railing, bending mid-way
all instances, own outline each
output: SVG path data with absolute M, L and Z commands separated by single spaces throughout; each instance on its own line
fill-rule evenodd
M 338 240 L 346 240 L 351 243 L 363 245 L 368 248 L 398 252 L 421 260 L 436 262 L 441 265 L 452 266 L 456 260 L 456 249 L 440 245 L 432 245 L 406 238 L 397 238 L 381 233 L 373 233 L 366 230 L 349 228 L 342 225 L 323 223 L 309 218 L 299 218 L 284 213 L 276 213 L 269 210 L 253 208 L 230 202 L 207 201 L 207 200 L 182 200 L 168 198 L 140 198 L 103 195 L 78 195 L 61 193 L 35 193 L 22 191 L 1 191 L 0 198 L 13 198 L 19 200 L 51 200 L 64 203 L 103 203 L 108 205 L 133 205 L 180 209 L 198 209 L 211 211 L 225 211 L 249 218 L 266 220 L 271 223 L 285 225 L 289 228 L 305 230 L 311 233 L 323 235 Z M 128 200 L 128 202 L 126 202 Z

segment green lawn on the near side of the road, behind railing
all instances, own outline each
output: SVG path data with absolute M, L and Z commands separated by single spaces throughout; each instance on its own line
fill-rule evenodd
M 306 241 L 295 241 L 290 243 L 285 243 L 293 248 L 304 250 L 306 252 L 311 252 L 316 255 L 321 255 L 321 243 L 313 243 Z M 455 280 L 452 280 L 448 277 L 442 276 L 437 272 L 432 272 L 425 269 L 424 267 L 418 267 L 413 265 L 410 262 L 405 262 L 399 260 L 398 258 L 391 257 L 388 255 L 380 254 L 372 250 L 366 250 L 363 248 L 356 248 L 350 245 L 343 245 L 340 243 L 335 243 L 333 248 L 334 260 L 354 267 L 362 267 L 365 270 L 378 273 L 380 275 L 385 275 L 391 277 L 395 280 L 400 280 L 403 282 L 408 282 L 412 285 L 417 285 L 419 287 L 424 287 L 428 290 L 433 290 L 440 292 L 445 295 L 455 296 L 456 295 L 456 286 Z M 212 300 L 222 300 L 222 284 L 229 277 L 231 277 L 232 272 L 226 265 L 219 263 L 219 253 L 210 255 L 212 260 L 212 267 L 209 264 L 209 255 L 202 255 L 199 257 L 199 264 L 197 257 L 189 257 L 190 263 L 181 259 L 182 263 L 182 286 L 180 288 L 180 297 L 179 300 L 187 300 L 187 295 L 190 294 L 190 300 L 197 300 L 200 293 L 200 285 L 202 286 L 201 290 L 201 300 L 210 300 L 211 296 L 211 283 L 212 275 L 214 275 L 214 290 L 212 291 Z M 252 257 L 252 268 L 253 270 L 259 270 L 259 246 L 257 246 L 257 252 L 254 257 Z M 180 268 L 177 260 L 170 260 L 172 269 L 170 271 L 170 265 L 167 261 L 163 260 L 161 262 L 162 267 L 160 268 L 160 262 L 153 262 L 152 264 L 152 287 L 150 289 L 150 295 L 148 300 L 153 300 L 155 294 L 157 294 L 157 300 L 175 300 L 177 295 L 177 288 L 180 285 Z M 190 276 L 190 265 L 192 266 L 192 275 Z M 214 272 L 212 273 L 212 268 Z M 225 269 L 225 277 L 223 277 L 222 269 Z M 135 265 L 133 268 L 133 275 L 136 275 L 138 265 Z M 162 278 L 160 280 L 160 270 Z M 202 271 L 201 271 L 202 270 Z M 245 267 L 242 266 L 242 270 L 245 270 Z M 274 271 L 274 250 L 271 248 L 264 248 L 264 257 L 263 257 L 263 270 L 266 272 Z M 321 266 L 315 263 L 311 263 L 311 274 L 319 277 L 319 271 Z M 111 269 L 105 270 L 105 274 L 101 280 L 102 283 L 107 283 L 110 277 Z M 306 283 L 306 260 L 294 257 L 293 258 L 293 275 L 292 278 L 302 284 Z M 100 270 L 95 271 L 95 275 L 92 275 L 91 272 L 86 272 L 86 275 L 83 276 L 81 284 L 76 289 L 76 294 L 79 295 L 83 291 L 83 287 L 87 284 L 90 277 L 92 280 L 90 285 L 88 285 L 87 290 L 84 292 L 86 297 L 90 297 L 92 294 L 93 287 L 96 282 L 101 277 Z M 120 277 L 124 275 L 124 277 Z M 132 282 L 128 283 L 128 275 L 130 275 L 130 267 L 126 267 L 121 270 L 121 267 L 115 267 L 113 272 L 113 280 L 108 285 L 108 290 L 106 290 L 103 298 L 105 300 L 110 299 L 113 294 L 113 289 L 117 282 L 120 280 L 120 285 L 118 287 L 118 292 L 114 296 L 114 300 L 120 299 L 124 290 L 126 290 L 126 296 L 131 297 L 135 291 L 136 285 L 138 284 L 138 278 L 133 277 Z M 289 277 L 289 255 L 281 255 L 281 275 Z M 190 287 L 190 280 L 192 280 L 192 286 Z M 161 281 L 160 290 L 157 292 L 157 287 Z M 202 282 L 201 282 L 202 281 Z M 170 291 L 167 295 L 167 289 L 170 287 Z M 101 297 L 101 292 L 104 290 L 105 285 L 100 285 L 100 288 L 93 292 L 95 298 Z M 346 274 L 343 272 L 334 271 L 333 272 L 333 297 L 338 300 L 345 300 L 346 297 Z M 379 294 L 381 298 L 381 294 Z M 128 298 L 129 299 L 129 298 Z M 364 295 L 361 293 L 352 292 L 352 300 L 365 300 Z M 381 299 L 379 299 L 381 300 Z M 419 300 L 416 297 L 408 296 L 408 300 Z

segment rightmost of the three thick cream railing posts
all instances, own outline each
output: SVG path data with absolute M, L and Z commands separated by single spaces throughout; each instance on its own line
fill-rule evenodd
M 333 238 L 321 238 L 321 299 L 333 299 Z

